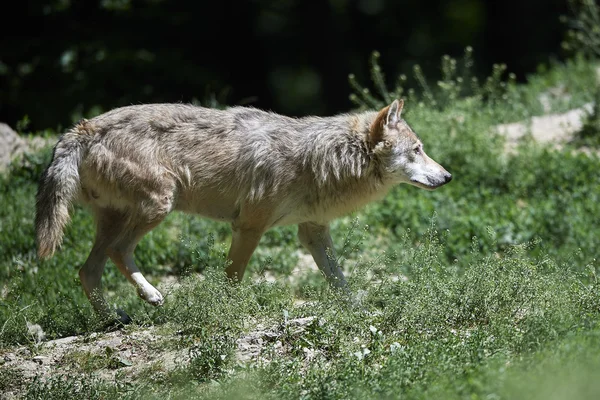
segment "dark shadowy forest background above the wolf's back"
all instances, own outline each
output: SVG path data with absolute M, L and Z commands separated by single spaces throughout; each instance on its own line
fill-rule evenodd
M 566 0 L 31 0 L 4 7 L 0 121 L 61 129 L 147 102 L 246 104 L 288 115 L 350 110 L 348 74 L 387 78 L 474 49 L 523 81 L 561 59 Z

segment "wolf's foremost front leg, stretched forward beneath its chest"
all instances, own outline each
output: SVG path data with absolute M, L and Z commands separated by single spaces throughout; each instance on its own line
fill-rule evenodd
M 305 222 L 298 225 L 298 239 L 310 251 L 317 266 L 334 287 L 346 288 L 346 278 L 335 259 L 329 226 Z

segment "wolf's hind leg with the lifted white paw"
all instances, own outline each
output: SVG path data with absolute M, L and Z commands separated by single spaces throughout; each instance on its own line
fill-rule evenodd
M 127 232 L 109 247 L 108 255 L 119 271 L 136 288 L 138 295 L 149 304 L 159 306 L 163 303 L 163 295 L 141 273 L 133 258 L 133 251 L 142 237 L 156 227 L 162 218 L 150 223 L 140 223 L 130 226 Z

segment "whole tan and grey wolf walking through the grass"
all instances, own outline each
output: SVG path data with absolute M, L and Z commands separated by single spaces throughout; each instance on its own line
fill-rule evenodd
M 334 287 L 346 287 L 329 223 L 394 185 L 433 190 L 452 175 L 402 119 L 404 101 L 377 111 L 288 117 L 253 107 L 142 104 L 81 120 L 54 147 L 36 199 L 40 258 L 60 246 L 69 210 L 87 205 L 95 241 L 79 270 L 94 310 L 111 311 L 101 278 L 110 258 L 152 305 L 163 303 L 134 261 L 140 239 L 172 211 L 231 224 L 226 273 L 241 280 L 261 236 L 295 224 Z

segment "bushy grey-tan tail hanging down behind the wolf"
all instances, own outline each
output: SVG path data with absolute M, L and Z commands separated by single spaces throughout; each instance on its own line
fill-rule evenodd
M 37 193 L 35 230 L 38 256 L 50 257 L 62 242 L 69 222 L 69 208 L 80 190 L 79 165 L 83 157 L 82 135 L 65 133 L 54 148 Z

